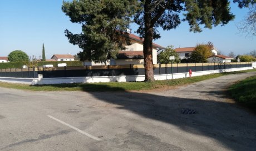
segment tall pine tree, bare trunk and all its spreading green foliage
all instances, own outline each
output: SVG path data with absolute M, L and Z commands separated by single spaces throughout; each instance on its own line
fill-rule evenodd
M 254 0 L 233 2 L 238 2 L 239 7 L 247 7 Z M 188 21 L 193 32 L 201 32 L 202 25 L 210 29 L 219 24 L 225 25 L 234 18 L 229 3 L 228 0 L 73 0 L 63 1 L 62 11 L 71 22 L 82 24 L 80 34 L 65 31 L 70 43 L 83 49 L 78 53 L 82 61 L 102 62 L 115 58 L 117 51 L 123 49 L 120 43 L 129 41 L 125 30 L 133 17 L 139 25 L 136 32 L 144 38 L 145 81 L 154 81 L 152 41 L 160 38 L 157 28 L 170 30 L 178 27 L 181 11 L 185 15 L 183 21 Z M 121 37 L 124 34 L 126 38 Z

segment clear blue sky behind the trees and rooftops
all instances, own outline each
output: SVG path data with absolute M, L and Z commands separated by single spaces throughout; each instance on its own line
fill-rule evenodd
M 62 0 L 0 0 L 0 56 L 8 56 L 14 50 L 21 50 L 28 56 L 39 58 L 42 56 L 43 43 L 46 59 L 50 59 L 53 54 L 75 55 L 82 51 L 69 43 L 64 33 L 65 29 L 80 33 L 81 25 L 70 22 L 61 6 Z M 240 9 L 233 3 L 230 7 L 236 17 L 225 26 L 203 28 L 203 32 L 193 33 L 189 32 L 188 22 L 182 22 L 179 27 L 170 31 L 159 28 L 161 38 L 154 43 L 177 48 L 194 47 L 210 41 L 225 55 L 230 51 L 238 55 L 256 50 L 256 38 L 239 33 L 236 26 L 243 20 L 248 9 Z M 136 29 L 137 26 L 131 24 L 132 33 Z

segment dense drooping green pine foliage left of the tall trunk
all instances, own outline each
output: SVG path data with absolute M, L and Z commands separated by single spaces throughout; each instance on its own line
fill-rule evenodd
M 130 43 L 126 29 L 135 13 L 135 4 L 135 0 L 63 2 L 62 11 L 70 21 L 82 24 L 80 34 L 65 31 L 70 43 L 83 50 L 77 54 L 81 61 L 106 62 L 125 49 L 123 46 Z

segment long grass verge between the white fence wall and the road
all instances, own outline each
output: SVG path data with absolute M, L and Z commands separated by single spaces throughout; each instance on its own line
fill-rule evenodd
M 14 88 L 33 91 L 86 91 L 86 92 L 113 92 L 131 90 L 151 90 L 166 87 L 174 87 L 184 84 L 199 82 L 201 80 L 220 77 L 223 75 L 237 74 L 244 72 L 255 72 L 256 69 L 239 72 L 224 72 L 208 75 L 201 75 L 191 78 L 156 80 L 155 82 L 107 82 L 107 83 L 73 83 L 73 84 L 49 84 L 49 85 L 28 85 L 0 82 L 0 87 Z

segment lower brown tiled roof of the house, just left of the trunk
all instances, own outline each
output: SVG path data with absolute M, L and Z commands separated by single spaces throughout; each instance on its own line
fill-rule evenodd
M 142 51 L 120 51 L 117 54 L 117 59 L 143 59 Z

